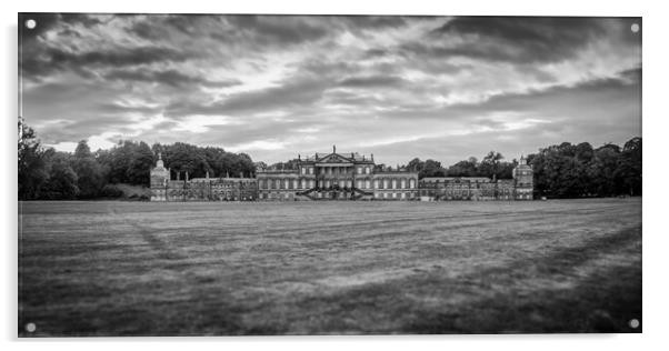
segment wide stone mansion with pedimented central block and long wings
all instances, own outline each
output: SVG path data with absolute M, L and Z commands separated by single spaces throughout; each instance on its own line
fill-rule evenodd
M 241 176 L 241 174 L 240 174 Z M 445 177 L 418 179 L 405 168 L 377 168 L 373 154 L 298 156 L 290 170 L 258 169 L 254 177 L 171 179 L 159 154 L 151 170 L 151 201 L 311 200 L 532 200 L 533 176 L 525 158 L 513 179 Z

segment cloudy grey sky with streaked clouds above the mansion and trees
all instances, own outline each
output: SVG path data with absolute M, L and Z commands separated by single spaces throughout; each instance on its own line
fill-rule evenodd
M 506 160 L 641 136 L 641 20 L 20 14 L 21 113 L 47 146 L 188 142 Z

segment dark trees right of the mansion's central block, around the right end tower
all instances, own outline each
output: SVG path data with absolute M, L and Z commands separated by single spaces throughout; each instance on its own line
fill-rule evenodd
M 622 148 L 606 143 L 597 149 L 588 142 L 563 142 L 527 156 L 535 171 L 536 198 L 591 198 L 641 195 L 642 140 L 635 137 Z M 503 161 L 499 152 L 490 151 L 479 162 L 477 158 L 459 161 L 448 168 L 439 161 L 413 159 L 406 166 L 425 177 L 486 177 L 511 179 L 517 160 Z

